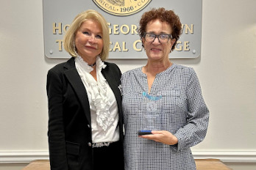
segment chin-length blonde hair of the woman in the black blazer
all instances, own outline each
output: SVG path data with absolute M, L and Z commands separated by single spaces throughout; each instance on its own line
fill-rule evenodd
M 77 51 L 74 47 L 77 30 L 80 28 L 82 23 L 88 19 L 92 19 L 93 21 L 98 22 L 102 26 L 103 49 L 100 53 L 100 57 L 102 61 L 104 61 L 105 59 L 107 59 L 110 50 L 110 34 L 108 31 L 109 29 L 107 21 L 96 10 L 87 10 L 85 12 L 81 12 L 74 18 L 74 21 L 71 23 L 71 26 L 69 27 L 68 31 L 64 36 L 65 51 L 67 51 L 71 56 L 77 56 Z

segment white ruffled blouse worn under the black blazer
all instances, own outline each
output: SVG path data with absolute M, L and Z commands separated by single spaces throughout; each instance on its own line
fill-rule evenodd
M 76 57 L 75 64 L 90 103 L 93 143 L 118 141 L 118 106 L 112 89 L 102 75 L 102 69 L 106 65 L 97 56 L 96 81 L 93 75 L 90 75 L 93 67 L 90 67 L 81 56 Z

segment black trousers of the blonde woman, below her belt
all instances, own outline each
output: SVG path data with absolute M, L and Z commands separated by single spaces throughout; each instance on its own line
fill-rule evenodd
M 124 151 L 121 141 L 115 141 L 106 147 L 93 147 L 94 170 L 123 170 Z

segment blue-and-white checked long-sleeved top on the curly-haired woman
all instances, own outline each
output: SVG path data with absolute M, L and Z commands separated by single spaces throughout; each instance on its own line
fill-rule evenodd
M 190 147 L 205 138 L 209 111 L 195 71 L 172 64 L 156 75 L 148 94 L 141 70 L 121 77 L 125 169 L 196 169 Z M 179 141 L 170 146 L 138 138 L 138 130 L 168 130 Z

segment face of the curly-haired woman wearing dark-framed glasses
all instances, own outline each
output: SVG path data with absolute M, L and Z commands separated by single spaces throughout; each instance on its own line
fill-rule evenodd
M 146 25 L 146 33 L 152 34 L 171 34 L 171 26 L 166 22 L 161 22 L 160 20 L 150 21 Z M 172 45 L 174 45 L 175 39 L 171 38 L 166 43 L 159 42 L 156 37 L 153 42 L 147 42 L 145 38 L 142 39 L 146 55 L 149 60 L 163 60 L 168 59 L 168 54 L 171 51 Z

